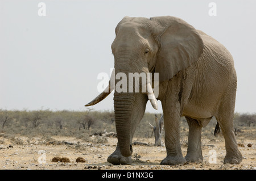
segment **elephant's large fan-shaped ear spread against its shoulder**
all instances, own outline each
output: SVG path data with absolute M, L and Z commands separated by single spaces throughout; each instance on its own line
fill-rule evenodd
M 151 20 L 160 26 L 155 72 L 159 73 L 159 81 L 162 82 L 197 61 L 203 53 L 204 44 L 196 29 L 184 20 L 172 16 Z

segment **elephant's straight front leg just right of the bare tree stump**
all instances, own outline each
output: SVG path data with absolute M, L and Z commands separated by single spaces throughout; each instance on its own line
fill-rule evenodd
M 180 146 L 180 112 L 164 110 L 164 142 L 166 145 L 167 157 L 161 165 L 183 165 L 186 160 L 181 153 Z

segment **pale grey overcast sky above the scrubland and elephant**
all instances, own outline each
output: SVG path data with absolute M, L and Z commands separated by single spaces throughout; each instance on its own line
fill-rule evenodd
M 39 2 L 46 16 L 39 16 Z M 210 16 L 214 2 L 216 16 Z M 177 16 L 234 58 L 237 112 L 256 112 L 256 1 L 0 1 L 0 108 L 86 110 L 97 75 L 114 66 L 110 45 L 124 16 Z M 42 12 L 42 11 L 39 11 Z M 210 11 L 213 12 L 213 11 Z M 42 15 L 42 14 L 40 14 Z M 147 104 L 148 112 L 160 113 Z M 93 106 L 113 110 L 113 94 Z

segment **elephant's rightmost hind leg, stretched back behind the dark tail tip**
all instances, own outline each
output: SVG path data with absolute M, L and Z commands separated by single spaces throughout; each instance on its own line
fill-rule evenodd
M 221 104 L 216 116 L 225 139 L 226 156 L 224 158 L 224 163 L 230 164 L 239 164 L 242 162 L 242 154 L 238 150 L 233 127 L 235 99 L 236 94 L 232 94 L 232 91 L 225 94 L 221 100 Z

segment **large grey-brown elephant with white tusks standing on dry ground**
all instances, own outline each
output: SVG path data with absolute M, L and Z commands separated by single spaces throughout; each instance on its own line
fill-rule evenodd
M 114 75 L 118 73 L 158 73 L 151 78 L 148 91 L 114 91 L 114 115 L 117 146 L 108 162 L 131 164 L 131 146 L 147 101 L 164 114 L 166 158 L 161 165 L 202 162 L 201 129 L 213 116 L 225 140 L 224 163 L 239 164 L 233 131 L 237 75 L 229 51 L 213 37 L 174 16 L 152 18 L 125 16 L 115 28 L 112 43 Z M 115 77 L 117 80 L 118 78 Z M 151 93 L 158 84 L 158 96 Z M 114 90 L 109 86 L 85 106 L 97 104 Z M 144 84 L 141 86 L 143 87 Z M 188 148 L 183 157 L 180 145 L 180 117 L 187 120 Z

